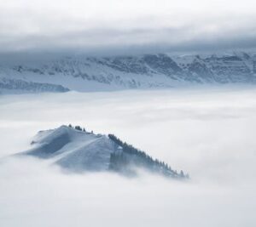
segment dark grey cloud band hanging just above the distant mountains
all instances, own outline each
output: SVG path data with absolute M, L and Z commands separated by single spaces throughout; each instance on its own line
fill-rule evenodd
M 233 31 L 230 34 L 191 36 L 194 28 L 152 30 L 94 30 L 61 33 L 60 35 L 31 35 L 1 37 L 1 53 L 84 53 L 140 54 L 152 52 L 218 51 L 224 49 L 256 48 L 256 28 Z M 240 29 L 241 31 L 241 29 Z

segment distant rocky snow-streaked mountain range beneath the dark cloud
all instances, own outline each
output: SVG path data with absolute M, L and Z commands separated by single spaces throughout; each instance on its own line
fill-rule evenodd
M 62 57 L 1 65 L 0 91 L 66 92 L 256 82 L 256 54 Z

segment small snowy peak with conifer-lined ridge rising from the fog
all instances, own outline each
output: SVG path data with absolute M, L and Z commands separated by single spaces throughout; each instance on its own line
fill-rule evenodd
M 35 156 L 47 159 L 70 172 L 111 171 L 127 176 L 137 175 L 142 168 L 149 173 L 168 178 L 186 179 L 183 171 L 177 173 L 165 162 L 153 159 L 145 152 L 127 145 L 113 134 L 88 133 L 79 126 L 40 131 L 32 140 L 32 149 L 17 156 Z

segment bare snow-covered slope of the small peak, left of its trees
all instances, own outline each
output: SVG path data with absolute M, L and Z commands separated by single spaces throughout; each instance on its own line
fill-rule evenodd
M 85 133 L 64 125 L 39 132 L 32 145 L 32 150 L 23 154 L 49 159 L 76 172 L 107 170 L 110 154 L 115 150 L 105 135 Z

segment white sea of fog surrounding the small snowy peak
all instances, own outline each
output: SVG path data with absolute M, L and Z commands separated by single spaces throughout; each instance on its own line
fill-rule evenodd
M 27 150 L 62 124 L 114 133 L 189 173 L 64 174 Z M 201 88 L 0 96 L 0 226 L 256 226 L 256 90 Z

